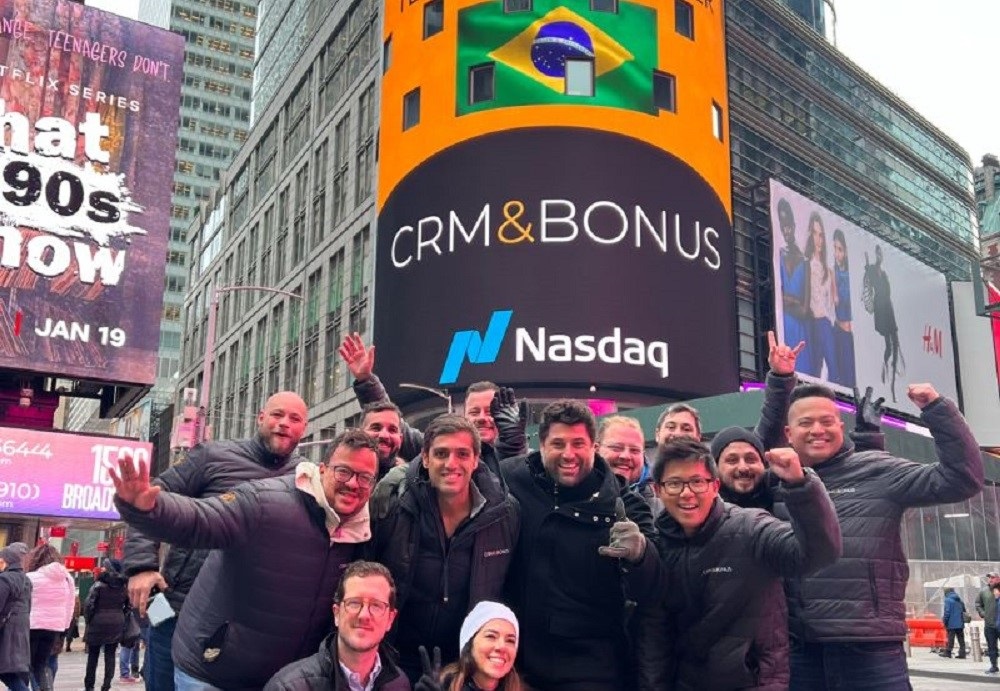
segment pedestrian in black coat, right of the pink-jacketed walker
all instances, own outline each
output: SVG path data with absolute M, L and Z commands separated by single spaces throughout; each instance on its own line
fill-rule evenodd
M 94 691 L 97 676 L 97 660 L 104 651 L 104 681 L 101 691 L 108 691 L 115 678 L 115 653 L 125 627 L 125 615 L 129 609 L 127 579 L 122 575 L 121 562 L 107 560 L 107 567 L 98 576 L 97 583 L 90 589 L 87 602 L 83 606 L 83 620 L 86 629 L 83 642 L 87 647 L 87 668 L 83 676 L 85 691 Z

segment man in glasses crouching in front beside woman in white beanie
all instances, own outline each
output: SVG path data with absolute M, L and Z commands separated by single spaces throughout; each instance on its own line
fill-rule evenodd
M 396 585 L 389 570 L 370 561 L 352 563 L 333 598 L 336 630 L 319 652 L 283 667 L 264 691 L 410 691 L 392 651 L 382 645 L 395 620 Z

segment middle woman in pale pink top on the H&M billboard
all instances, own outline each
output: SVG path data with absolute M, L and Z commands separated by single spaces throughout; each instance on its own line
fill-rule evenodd
M 807 339 L 812 343 L 812 362 L 802 371 L 814 377 L 823 374 L 826 363 L 827 381 L 837 381 L 837 355 L 833 347 L 834 280 L 827 263 L 826 230 L 818 212 L 809 216 L 809 239 L 806 240 L 806 259 L 809 262 L 809 312 L 812 320 Z M 800 355 L 801 357 L 801 355 Z

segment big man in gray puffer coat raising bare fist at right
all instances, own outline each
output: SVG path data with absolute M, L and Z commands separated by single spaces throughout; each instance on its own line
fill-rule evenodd
M 900 522 L 906 509 L 963 501 L 983 487 L 983 459 L 957 406 L 930 384 L 907 392 L 937 447 L 938 463 L 856 451 L 844 438 L 836 397 L 825 386 L 792 392 L 785 433 L 837 508 L 844 553 L 833 566 L 785 580 L 792 637 L 792 691 L 909 688 L 903 597 L 909 566 Z M 765 405 L 780 392 L 770 389 Z M 789 517 L 779 500 L 779 518 Z

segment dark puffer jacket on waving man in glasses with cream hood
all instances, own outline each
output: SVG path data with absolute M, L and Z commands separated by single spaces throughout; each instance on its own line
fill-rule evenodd
M 163 492 L 149 512 L 116 505 L 148 535 L 214 550 L 181 610 L 173 659 L 227 691 L 260 689 L 319 647 L 340 576 L 360 554 L 356 543 L 331 540 L 323 509 L 292 475 L 207 499 Z

